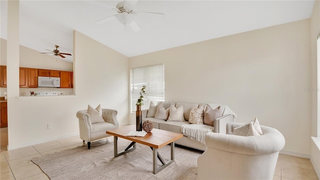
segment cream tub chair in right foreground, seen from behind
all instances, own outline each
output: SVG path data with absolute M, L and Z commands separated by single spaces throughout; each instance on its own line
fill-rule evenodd
M 208 132 L 207 149 L 197 159 L 198 179 L 272 179 L 285 139 L 275 128 L 261 125 L 263 135 L 233 135 L 229 122 L 226 134 Z

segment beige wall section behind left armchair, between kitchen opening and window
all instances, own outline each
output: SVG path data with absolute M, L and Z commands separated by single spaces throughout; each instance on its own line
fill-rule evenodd
M 118 111 L 120 125 L 128 124 L 128 57 L 80 32 L 74 32 L 74 39 L 74 85 L 79 108 L 101 104 L 102 108 Z

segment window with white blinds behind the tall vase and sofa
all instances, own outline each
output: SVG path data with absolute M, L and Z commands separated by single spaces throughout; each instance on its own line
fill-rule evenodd
M 141 109 L 149 108 L 150 101 L 164 100 L 164 65 L 151 65 L 131 69 L 131 112 L 136 109 L 135 103 L 138 99 L 140 89 L 145 85 L 143 105 Z

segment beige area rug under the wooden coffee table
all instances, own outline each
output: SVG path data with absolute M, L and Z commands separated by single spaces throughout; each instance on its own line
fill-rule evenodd
M 118 150 L 130 141 L 119 138 Z M 158 149 L 162 158 L 170 159 L 170 146 Z M 91 149 L 80 146 L 42 157 L 32 158 L 47 176 L 54 179 L 196 179 L 197 158 L 202 151 L 175 146 L 174 162 L 152 173 L 152 150 L 137 143 L 136 149 L 114 157 L 113 138 L 91 142 Z M 158 165 L 161 163 L 158 160 Z

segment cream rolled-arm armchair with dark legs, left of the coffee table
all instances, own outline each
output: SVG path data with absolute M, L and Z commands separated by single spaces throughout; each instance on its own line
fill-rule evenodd
M 88 149 L 92 140 L 97 140 L 110 136 L 105 133 L 106 130 L 119 127 L 119 122 L 116 119 L 117 110 L 102 108 L 102 118 L 104 122 L 91 123 L 90 115 L 87 110 L 79 110 L 76 112 L 76 117 L 79 119 L 80 138 L 87 141 Z

